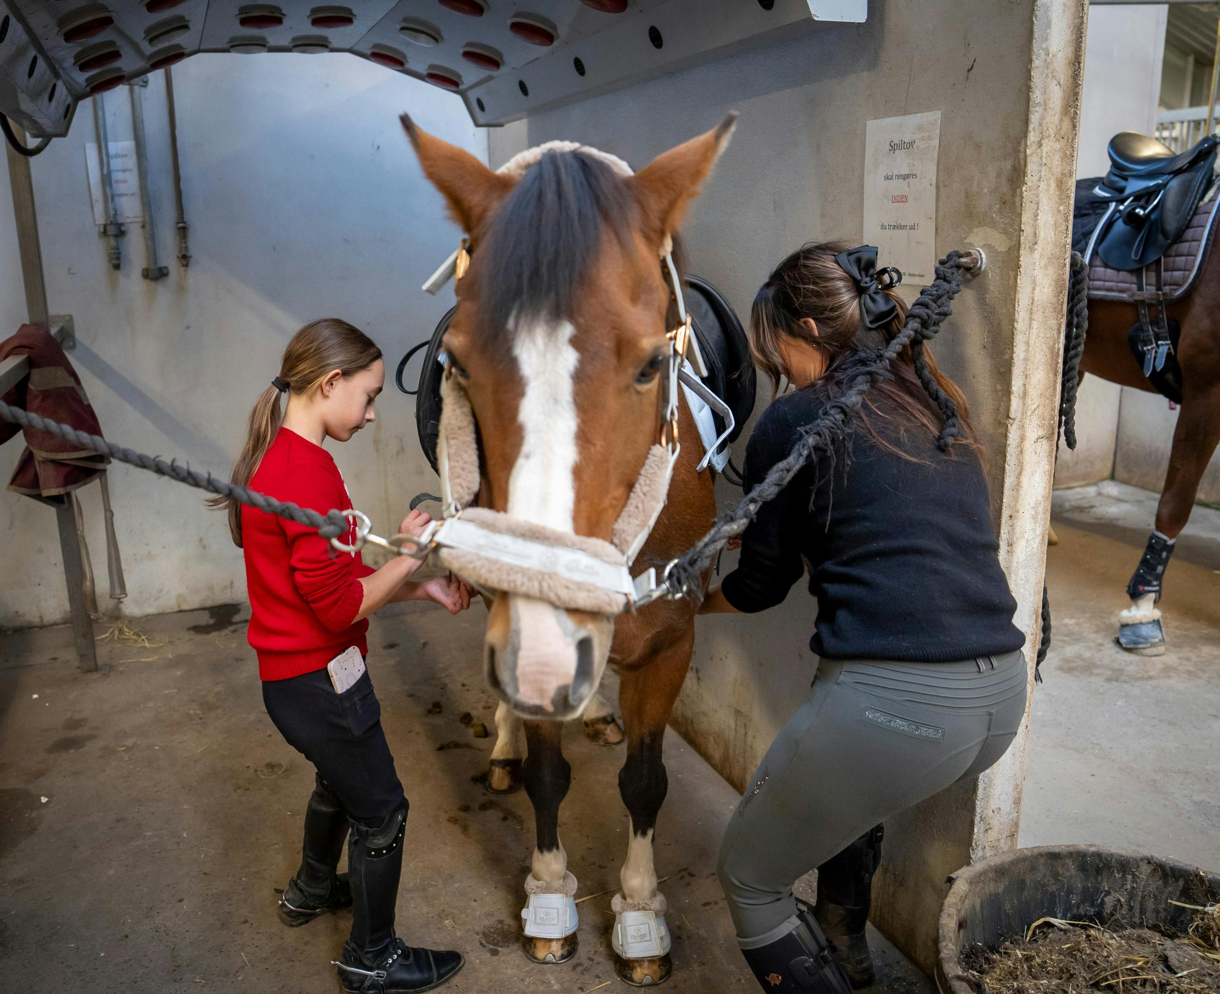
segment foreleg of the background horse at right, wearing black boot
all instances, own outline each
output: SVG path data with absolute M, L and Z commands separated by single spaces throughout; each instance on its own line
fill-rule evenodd
M 1155 527 L 1159 534 L 1148 538 L 1143 557 L 1127 584 L 1131 606 L 1119 613 L 1119 644 L 1128 651 L 1157 656 L 1165 651 L 1165 632 L 1160 609 L 1157 607 L 1161 581 L 1218 442 L 1220 384 L 1188 396 L 1177 417 L 1165 485 L 1157 504 Z

